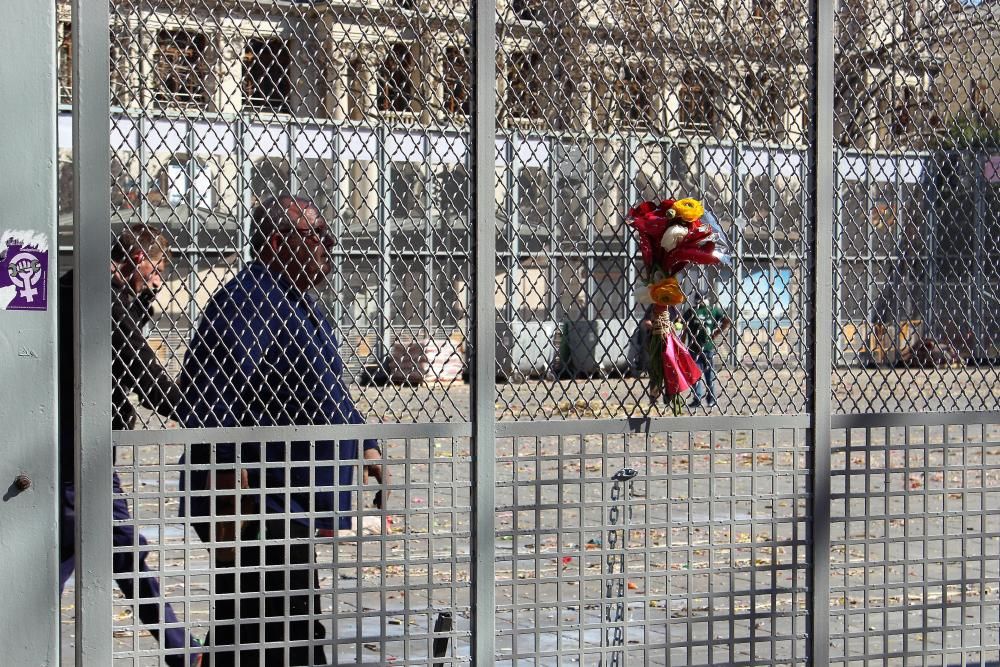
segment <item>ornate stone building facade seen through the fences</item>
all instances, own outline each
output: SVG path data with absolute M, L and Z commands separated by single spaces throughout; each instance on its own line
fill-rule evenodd
M 803 332 L 790 323 L 802 304 L 810 114 L 809 26 L 798 2 L 498 2 L 503 322 L 633 317 L 624 211 L 642 198 L 700 193 L 736 255 L 731 268 L 693 277 L 734 313 L 732 361 L 798 354 Z M 841 261 L 867 262 L 862 282 L 888 269 L 871 252 L 852 254 L 855 239 L 867 247 L 875 238 L 880 206 L 899 215 L 919 207 L 924 170 L 902 153 L 926 148 L 942 124 L 947 58 L 928 36 L 954 11 L 936 0 L 904 5 L 843 0 L 838 9 Z M 292 191 L 317 198 L 335 221 L 329 303 L 350 362 L 364 365 L 399 339 L 463 339 L 468 3 L 160 0 L 123 2 L 113 14 L 116 222 L 173 232 L 185 261 L 163 297 L 171 332 L 183 338 L 245 258 L 249 209 Z M 897 52 L 907 57 L 886 55 Z M 66 210 L 65 149 L 61 162 Z M 905 226 L 889 227 L 898 246 Z M 869 319 L 877 301 L 853 299 L 842 317 Z

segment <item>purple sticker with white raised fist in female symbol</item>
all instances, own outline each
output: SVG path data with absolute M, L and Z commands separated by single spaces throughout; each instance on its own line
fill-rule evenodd
M 46 310 L 48 271 L 44 235 L 16 229 L 0 235 L 0 310 Z

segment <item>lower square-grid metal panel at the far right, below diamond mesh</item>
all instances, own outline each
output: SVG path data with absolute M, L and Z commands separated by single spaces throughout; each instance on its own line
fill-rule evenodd
M 839 429 L 831 664 L 1000 658 L 1000 428 Z

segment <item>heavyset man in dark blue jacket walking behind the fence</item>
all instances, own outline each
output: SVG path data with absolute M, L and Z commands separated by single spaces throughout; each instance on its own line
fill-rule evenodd
M 329 250 L 334 239 L 326 221 L 311 201 L 288 195 L 263 202 L 252 217 L 254 261 L 213 295 L 184 358 L 180 380 L 188 406 L 184 425 L 364 423 L 343 381 L 333 327 L 310 294 L 331 268 Z M 315 530 L 351 527 L 353 494 L 334 487 L 353 484 L 354 468 L 359 465 L 364 466 L 364 481 L 370 475 L 387 484 L 377 462 L 382 457 L 379 445 L 365 440 L 361 458 L 357 440 L 242 442 L 238 447 L 239 466 L 216 472 L 214 479 L 208 470 L 192 471 L 185 480 L 191 489 L 186 510 L 192 517 L 235 512 L 234 496 L 217 495 L 213 507 L 211 494 L 199 491 L 237 484 L 273 490 L 264 492 L 264 508 L 255 504 L 261 496 L 240 495 L 241 511 L 262 514 L 261 521 L 244 521 L 238 529 L 227 522 L 193 524 L 199 537 L 210 544 L 216 570 L 223 569 L 214 575 L 215 592 L 233 594 L 232 599 L 216 603 L 213 633 L 205 641 L 214 649 L 205 654 L 205 664 L 236 664 L 239 643 L 258 644 L 239 649 L 239 664 L 325 665 L 325 652 L 317 641 L 323 638 L 324 628 L 309 618 L 320 613 L 313 549 L 308 540 L 295 538 L 312 537 Z M 192 464 L 236 461 L 234 443 L 196 445 L 191 450 Z M 386 499 L 383 488 L 376 502 L 384 507 Z M 240 546 L 238 562 L 235 549 L 214 546 L 232 542 L 237 530 L 241 542 L 250 541 Z M 286 544 L 288 538 L 293 540 L 290 544 Z M 268 566 L 263 574 L 261 565 Z M 283 567 L 274 567 L 279 565 Z M 294 620 L 296 616 L 304 618 Z M 288 617 L 292 620 L 286 637 Z M 317 645 L 292 646 L 286 662 L 282 646 L 286 641 Z M 262 663 L 261 642 L 268 644 Z

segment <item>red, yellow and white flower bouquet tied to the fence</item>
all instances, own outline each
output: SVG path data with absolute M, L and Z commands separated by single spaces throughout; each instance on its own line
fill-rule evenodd
M 639 236 L 643 284 L 636 300 L 653 306 L 649 337 L 649 393 L 660 396 L 674 414 L 683 409 L 681 394 L 701 379 L 687 347 L 677 338 L 670 308 L 684 303 L 677 276 L 692 264 L 726 261 L 725 236 L 697 199 L 647 201 L 632 208 L 629 224 Z

